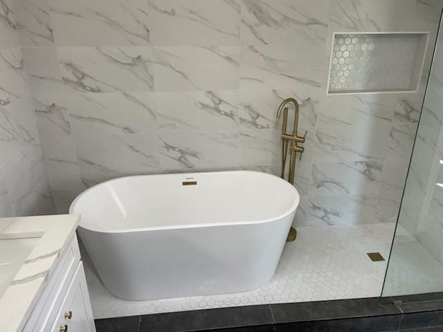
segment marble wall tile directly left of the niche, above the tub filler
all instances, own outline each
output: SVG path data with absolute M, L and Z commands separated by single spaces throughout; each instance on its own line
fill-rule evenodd
M 323 48 L 314 43 L 242 46 L 240 87 L 319 88 L 325 69 Z

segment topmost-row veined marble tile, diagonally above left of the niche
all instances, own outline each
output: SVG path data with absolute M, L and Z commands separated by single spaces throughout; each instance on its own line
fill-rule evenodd
M 242 44 L 324 43 L 329 0 L 242 0 Z

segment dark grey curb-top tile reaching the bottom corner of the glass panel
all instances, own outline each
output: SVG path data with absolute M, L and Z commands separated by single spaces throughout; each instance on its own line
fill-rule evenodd
M 271 304 L 275 323 L 331 320 L 367 315 L 401 313 L 395 306 L 379 306 L 376 297 L 367 299 L 343 299 L 336 301 Z

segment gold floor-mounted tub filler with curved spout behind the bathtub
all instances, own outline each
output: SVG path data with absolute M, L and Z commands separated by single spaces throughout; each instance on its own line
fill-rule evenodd
M 293 131 L 292 133 L 287 132 L 288 124 L 288 108 L 287 104 L 292 103 L 294 107 L 294 120 L 293 120 Z M 298 143 L 304 143 L 306 140 L 307 131 L 305 131 L 304 136 L 298 136 L 298 116 L 300 114 L 300 109 L 298 107 L 298 102 L 294 98 L 287 98 L 283 100 L 277 110 L 277 118 L 280 118 L 280 114 L 283 111 L 283 125 L 282 125 L 282 173 L 281 177 L 284 178 L 284 168 L 286 166 L 288 149 L 290 151 L 289 155 L 289 176 L 288 181 L 293 185 L 294 176 L 296 173 L 296 154 L 300 154 L 300 160 L 302 158 L 302 153 L 305 151 L 304 147 L 299 147 Z M 291 144 L 289 144 L 291 143 Z M 288 242 L 294 241 L 297 238 L 297 230 L 293 227 L 289 230 L 287 237 Z

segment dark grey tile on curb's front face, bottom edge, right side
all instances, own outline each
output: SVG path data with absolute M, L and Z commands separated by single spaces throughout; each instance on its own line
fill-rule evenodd
M 386 332 L 397 331 L 400 315 L 360 317 L 275 325 L 275 332 Z

